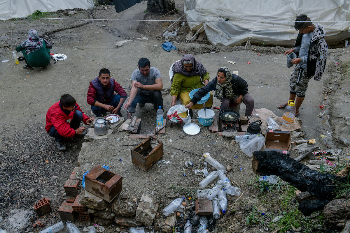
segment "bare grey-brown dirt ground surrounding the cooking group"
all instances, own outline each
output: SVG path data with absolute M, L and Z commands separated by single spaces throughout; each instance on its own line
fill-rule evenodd
M 176 20 L 183 14 L 183 1 L 176 0 L 175 3 L 179 11 L 163 17 L 145 12 L 146 2 L 138 3 L 119 14 L 116 14 L 113 6 L 97 6 L 87 11 L 73 9 L 76 12 L 73 15 L 68 15 L 70 10 L 63 10 L 48 17 Z M 183 165 L 188 158 L 197 161 L 198 156 L 169 147 L 165 147 L 163 156 L 164 160 L 171 161 L 169 165 L 153 166 L 147 173 L 135 169 L 130 162 L 132 147 L 119 146 L 141 143 L 142 140 L 130 140 L 126 133 L 114 132 L 103 143 L 92 142 L 99 154 L 93 155 L 83 147 L 79 157 L 84 153 L 91 156 L 84 157 L 79 163 L 78 154 L 82 147 L 82 139 L 68 140 L 68 149 L 65 152 L 57 150 L 54 140 L 44 130 L 47 109 L 59 101 L 62 94 L 68 93 L 75 97 L 88 116 L 92 116 L 90 105 L 86 102 L 86 92 L 89 81 L 98 76 L 101 68 L 108 68 L 123 87 L 130 88 L 130 75 L 137 68 L 139 58 L 147 57 L 151 61 L 151 66 L 160 70 L 163 88 L 167 88 L 170 87 L 169 67 L 174 61 L 181 59 L 184 54 L 181 51 L 187 50 L 188 53 L 196 54 L 196 59 L 209 71 L 210 78 L 215 77 L 217 69 L 221 66 L 228 66 L 231 71 L 238 71 L 238 74 L 248 82 L 249 93 L 255 100 L 255 108 L 267 108 L 275 111 L 278 116 L 282 115 L 282 111 L 277 110 L 276 106 L 286 102 L 288 98 L 288 82 L 293 71 L 286 66 L 283 55 L 285 48 L 250 45 L 244 50 L 244 46 L 218 47 L 206 42 L 185 44 L 184 37 L 189 28 L 187 25 L 182 27 L 180 23 L 176 23 L 174 26 L 180 28 L 179 36 L 172 42 L 178 50 L 167 52 L 161 48 L 164 39 L 158 35 L 168 26 L 169 24 L 161 22 L 62 19 L 0 22 L 0 29 L 4 32 L 0 36 L 0 58 L 9 60 L 0 63 L 0 183 L 2 184 L 0 216 L 4 219 L 0 227 L 5 228 L 8 233 L 32 231 L 30 226 L 37 220 L 33 204 L 42 197 L 52 198 L 54 204 L 51 205 L 53 212 L 41 220 L 47 226 L 55 223 L 59 219 L 58 206 L 65 199 L 63 184 L 76 166 L 81 166 L 79 172 L 83 172 L 97 164 L 109 165 L 112 171 L 124 177 L 123 188 L 126 198 L 131 198 L 133 195 L 140 199 L 143 192 L 148 192 L 159 196 L 163 202 L 169 202 L 167 196 L 176 191 L 164 187 L 168 187 L 169 184 L 195 186 L 200 181 L 198 175 L 191 174 L 194 169 L 187 169 Z M 51 66 L 47 69 L 34 68 L 33 71 L 22 68 L 24 61 L 21 61 L 20 65 L 15 65 L 12 51 L 26 39 L 27 31 L 31 28 L 36 29 L 50 41 L 53 46 L 51 52 L 64 53 L 68 59 L 58 61 L 56 64 L 51 61 Z M 139 37 L 147 37 L 148 40 L 137 40 Z M 116 47 L 117 41 L 126 39 L 132 41 L 120 48 Z M 308 139 L 316 139 L 323 149 L 327 148 L 325 143 L 329 147 L 342 148 L 345 156 L 349 155 L 350 141 L 349 126 L 346 124 L 346 122 L 350 124 L 350 119 L 346 118 L 350 117 L 350 95 L 348 95 L 350 87 L 346 73 L 348 68 L 346 62 L 350 60 L 349 50 L 349 48 L 329 50 L 331 58 L 327 61 L 324 76 L 321 82 L 310 81 L 300 116 Z M 232 65 L 227 62 L 228 60 L 235 61 L 236 64 Z M 251 64 L 247 64 L 249 61 Z M 325 93 L 328 94 L 327 100 L 324 100 Z M 163 99 L 166 112 L 171 104 L 168 92 L 163 93 Z M 322 103 L 325 104 L 325 110 L 318 107 Z M 217 99 L 214 105 L 219 107 Z M 240 113 L 244 113 L 244 109 L 243 105 Z M 317 114 L 323 111 L 329 118 L 317 117 Z M 122 114 L 126 116 L 126 111 L 122 110 Z M 151 132 L 154 129 L 155 114 L 150 104 L 146 104 L 142 109 L 137 108 L 136 115 L 142 116 L 144 132 Z M 196 116 L 196 112 L 194 115 Z M 329 123 L 327 119 L 330 120 Z M 330 136 L 326 134 L 327 132 L 332 132 L 333 146 L 329 143 L 330 137 L 328 141 L 321 138 L 321 134 Z M 224 216 L 218 221 L 213 232 L 243 231 L 244 203 L 257 202 L 258 195 L 256 189 L 247 185 L 251 179 L 255 179 L 251 169 L 251 158 L 242 154 L 237 144 L 232 145 L 230 139 L 219 137 L 203 126 L 196 136 L 174 140 L 182 135 L 181 127 L 176 126 L 167 128 L 167 134 L 159 136 L 158 139 L 164 144 L 196 154 L 209 152 L 225 166 L 232 166 L 228 174 L 229 179 L 236 181 L 237 187 L 245 191 L 245 195 L 238 202 L 243 204 L 239 204 L 241 207 L 237 207 L 237 213 Z M 117 141 L 116 138 L 121 140 Z M 238 155 L 238 158 L 233 158 L 232 154 Z M 123 163 L 118 161 L 120 158 Z M 187 176 L 183 176 L 184 173 Z M 155 179 L 156 177 L 158 178 Z M 236 197 L 229 197 L 229 204 L 235 199 Z M 19 222 L 18 219 L 22 221 Z M 238 225 L 235 225 L 236 221 L 239 222 Z M 260 229 L 260 231 L 271 230 Z

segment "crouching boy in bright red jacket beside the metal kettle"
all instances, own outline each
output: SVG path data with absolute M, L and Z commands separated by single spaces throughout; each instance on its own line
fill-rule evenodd
M 55 138 L 58 150 L 65 151 L 66 145 L 62 142 L 63 138 L 72 138 L 75 135 L 84 137 L 85 127 L 79 127 L 80 121 L 89 125 L 93 117 L 89 118 L 69 94 L 61 96 L 61 100 L 52 105 L 46 114 L 47 133 Z

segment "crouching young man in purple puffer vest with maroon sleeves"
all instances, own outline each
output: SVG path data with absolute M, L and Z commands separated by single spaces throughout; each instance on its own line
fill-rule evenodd
M 98 77 L 90 82 L 89 90 L 87 90 L 87 103 L 91 105 L 91 110 L 97 117 L 102 117 L 107 112 L 118 114 L 121 117 L 120 107 L 127 96 L 123 87 L 111 79 L 111 72 L 103 68 Z

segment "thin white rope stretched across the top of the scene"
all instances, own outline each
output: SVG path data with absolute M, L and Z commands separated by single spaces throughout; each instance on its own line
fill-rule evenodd
M 174 22 L 174 20 L 127 20 L 127 19 L 76 19 L 76 18 L 40 18 L 40 17 L 8 17 L 0 16 L 0 18 L 8 19 L 43 19 L 43 20 L 106 20 L 106 21 L 153 21 L 153 22 Z M 310 21 L 246 21 L 246 20 L 228 20 L 228 21 L 214 21 L 214 20 L 178 20 L 177 22 L 235 22 L 235 23 L 295 23 L 295 22 L 310 22 Z M 350 23 L 350 21 L 312 21 L 314 23 Z

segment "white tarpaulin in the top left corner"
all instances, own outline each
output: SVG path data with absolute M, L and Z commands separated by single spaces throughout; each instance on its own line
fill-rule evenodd
M 27 17 L 40 10 L 52 12 L 56 10 L 82 8 L 92 9 L 93 0 L 0 0 L 0 20 L 4 17 Z

